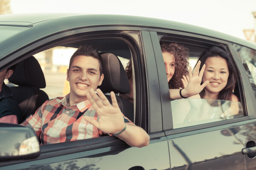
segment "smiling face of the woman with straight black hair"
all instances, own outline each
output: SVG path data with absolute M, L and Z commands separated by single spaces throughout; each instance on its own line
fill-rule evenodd
M 202 82 L 209 80 L 209 84 L 204 88 L 205 96 L 218 96 L 219 92 L 227 85 L 229 71 L 226 59 L 216 56 L 209 57 L 205 61 L 205 71 Z

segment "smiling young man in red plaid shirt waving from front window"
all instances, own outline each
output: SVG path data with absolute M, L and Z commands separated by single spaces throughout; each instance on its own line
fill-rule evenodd
M 67 70 L 70 94 L 47 100 L 22 125 L 33 128 L 41 144 L 89 139 L 111 133 L 131 146 L 148 145 L 148 134 L 123 116 L 113 92 L 111 105 L 102 91 L 96 90 L 104 79 L 102 67 L 102 58 L 93 46 L 79 47 L 72 55 Z

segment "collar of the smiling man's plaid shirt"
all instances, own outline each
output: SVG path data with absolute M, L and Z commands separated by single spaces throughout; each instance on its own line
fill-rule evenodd
M 70 100 L 70 94 L 67 94 L 66 96 L 63 97 L 63 99 L 61 99 L 61 101 L 58 103 L 58 106 L 63 105 L 66 108 L 71 108 L 76 106 L 80 112 L 84 112 L 87 108 L 92 108 L 92 104 L 88 99 L 84 100 L 83 102 L 76 103 L 75 105 L 72 105 L 72 106 L 68 106 L 69 100 Z

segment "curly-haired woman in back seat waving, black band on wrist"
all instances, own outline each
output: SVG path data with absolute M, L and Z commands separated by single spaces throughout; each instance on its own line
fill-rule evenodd
M 188 48 L 184 48 L 183 45 L 179 45 L 177 43 L 166 42 L 161 42 L 160 46 L 166 69 L 166 77 L 169 85 L 170 98 L 181 99 L 199 94 L 209 83 L 208 81 L 206 81 L 201 85 L 205 66 L 199 72 L 200 63 L 198 63 L 192 74 L 191 67 L 188 69 Z M 131 60 L 128 62 L 125 71 L 130 82 L 131 92 L 128 94 L 122 94 L 121 96 L 133 102 Z M 185 81 L 183 75 L 186 75 L 190 78 L 190 81 L 186 84 L 186 87 L 183 87 L 183 82 Z

